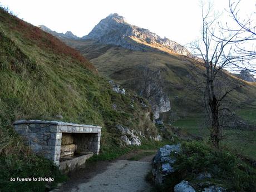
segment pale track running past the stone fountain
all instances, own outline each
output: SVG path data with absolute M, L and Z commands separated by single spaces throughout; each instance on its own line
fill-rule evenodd
M 86 163 L 72 171 L 70 180 L 53 191 L 61 192 L 146 192 L 151 186 L 145 176 L 151 170 L 155 151 L 133 151 L 115 161 Z M 136 159 L 134 161 L 127 159 Z

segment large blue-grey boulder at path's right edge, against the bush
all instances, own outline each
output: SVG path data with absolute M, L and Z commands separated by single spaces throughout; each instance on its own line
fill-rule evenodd
M 180 152 L 180 144 L 178 145 L 165 145 L 161 147 L 154 159 L 153 159 L 153 169 L 152 174 L 154 175 L 155 182 L 161 184 L 164 181 L 164 177 L 171 173 L 174 173 L 175 169 L 173 164 L 175 163 L 175 158 L 171 157 L 172 152 Z

